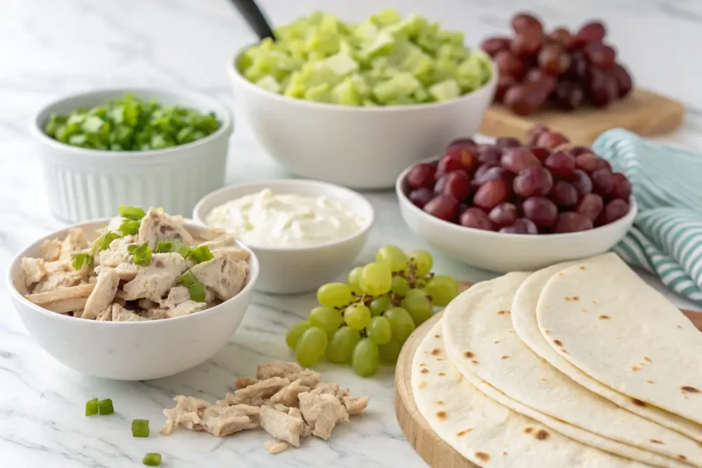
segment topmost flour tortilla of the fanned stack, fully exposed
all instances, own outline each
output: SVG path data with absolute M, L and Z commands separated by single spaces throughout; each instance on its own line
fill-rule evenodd
M 551 347 L 590 377 L 702 424 L 702 334 L 616 255 L 552 276 L 536 319 Z

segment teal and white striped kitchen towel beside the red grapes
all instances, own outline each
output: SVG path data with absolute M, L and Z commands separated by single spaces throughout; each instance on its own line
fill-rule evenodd
M 702 154 L 621 129 L 602 133 L 592 149 L 625 173 L 639 206 L 614 252 L 702 305 Z

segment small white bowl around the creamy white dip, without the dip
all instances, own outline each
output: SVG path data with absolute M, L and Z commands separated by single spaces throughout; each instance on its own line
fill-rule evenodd
M 261 265 L 256 290 L 274 294 L 305 293 L 333 281 L 349 269 L 366 243 L 375 214 L 373 206 L 364 196 L 344 187 L 315 180 L 268 180 L 234 185 L 209 194 L 199 201 L 192 218 L 206 224 L 207 215 L 216 206 L 266 188 L 276 194 L 329 196 L 331 199 L 342 201 L 350 210 L 362 216 L 366 225 L 361 231 L 345 239 L 313 247 L 270 248 L 251 245 L 249 242 L 249 248 L 256 253 Z

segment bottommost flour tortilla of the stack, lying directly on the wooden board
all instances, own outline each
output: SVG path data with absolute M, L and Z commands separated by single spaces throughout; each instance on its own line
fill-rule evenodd
M 430 427 L 479 466 L 649 468 L 577 443 L 489 399 L 446 360 L 441 323 L 417 348 L 411 381 L 419 412 Z

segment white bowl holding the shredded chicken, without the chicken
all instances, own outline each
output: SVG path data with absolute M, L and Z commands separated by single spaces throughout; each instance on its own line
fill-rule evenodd
M 76 225 L 95 239 L 108 220 Z M 34 305 L 18 291 L 22 257 L 38 257 L 41 242 L 62 239 L 69 228 L 32 243 L 14 258 L 6 287 L 22 323 L 37 345 L 69 368 L 116 380 L 146 380 L 174 375 L 210 359 L 224 347 L 244 319 L 258 277 L 256 255 L 249 260 L 244 289 L 220 305 L 174 319 L 107 322 L 75 319 Z M 241 248 L 246 246 L 241 245 Z M 249 250 L 247 248 L 247 250 Z

